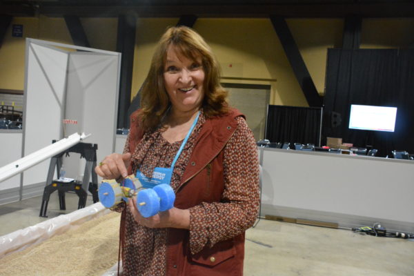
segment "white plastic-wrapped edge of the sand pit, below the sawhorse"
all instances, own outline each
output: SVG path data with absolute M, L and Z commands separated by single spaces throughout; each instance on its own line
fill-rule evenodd
M 110 210 L 103 207 L 100 202 L 97 202 L 86 208 L 75 210 L 72 213 L 59 215 L 59 217 L 42 221 L 34 226 L 3 235 L 0 237 L 0 259 L 10 253 L 39 244 L 55 235 L 63 234 L 71 228 L 80 226 L 83 222 L 108 213 L 110 213 Z

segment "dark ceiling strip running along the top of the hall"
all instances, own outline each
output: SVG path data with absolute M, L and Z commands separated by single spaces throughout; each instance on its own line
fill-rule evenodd
M 3 0 L 12 17 L 414 17 L 413 0 Z

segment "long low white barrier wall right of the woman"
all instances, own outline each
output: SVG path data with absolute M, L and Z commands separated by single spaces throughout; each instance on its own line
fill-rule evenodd
M 263 153 L 264 205 L 414 223 L 414 161 L 295 150 Z

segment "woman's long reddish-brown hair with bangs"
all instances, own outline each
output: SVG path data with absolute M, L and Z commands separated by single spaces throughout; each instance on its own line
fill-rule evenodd
M 221 87 L 219 64 L 206 41 L 188 27 L 170 27 L 157 44 L 141 91 L 140 114 L 144 131 L 153 131 L 161 126 L 171 104 L 164 86 L 164 66 L 170 46 L 174 46 L 177 54 L 188 59 L 195 61 L 201 57 L 204 69 L 204 99 L 201 106 L 204 115 L 213 117 L 228 112 L 228 92 Z

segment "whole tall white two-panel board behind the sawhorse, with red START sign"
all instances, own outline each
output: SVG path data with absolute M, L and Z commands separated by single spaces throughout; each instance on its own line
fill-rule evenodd
M 92 134 L 84 142 L 98 144 L 98 160 L 113 152 L 120 63 L 118 52 L 27 39 L 22 156 L 73 132 Z M 63 125 L 63 119 L 77 124 Z M 83 173 L 79 155 L 63 162 L 73 178 Z M 44 183 L 49 163 L 23 172 L 21 186 Z

